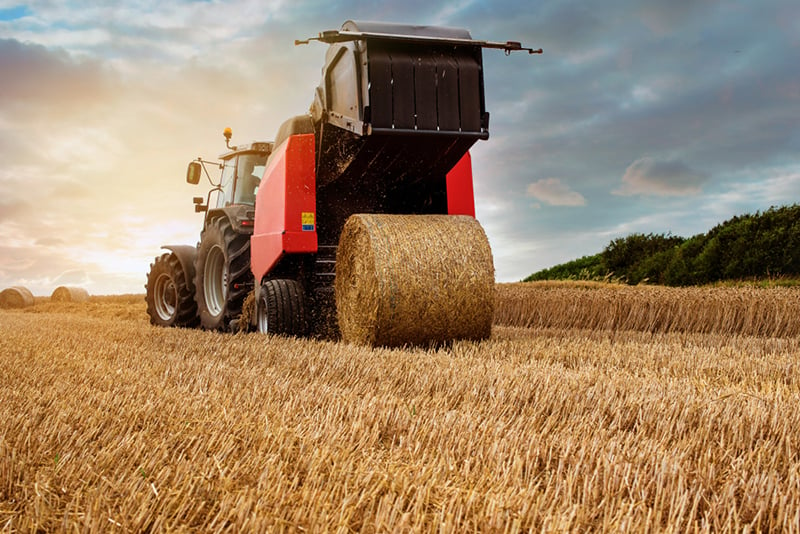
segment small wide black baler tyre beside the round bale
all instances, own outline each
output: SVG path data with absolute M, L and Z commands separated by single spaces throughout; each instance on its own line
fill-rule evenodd
M 302 284 L 296 280 L 266 280 L 256 305 L 256 324 L 262 334 L 305 336 L 308 321 Z

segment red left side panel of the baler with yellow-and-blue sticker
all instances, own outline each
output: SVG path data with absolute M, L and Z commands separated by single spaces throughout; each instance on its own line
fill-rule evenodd
M 284 254 L 317 251 L 314 134 L 290 136 L 270 157 L 256 193 L 250 267 L 256 281 Z

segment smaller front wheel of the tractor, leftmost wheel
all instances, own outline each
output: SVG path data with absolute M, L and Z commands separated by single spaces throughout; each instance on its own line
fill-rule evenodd
M 150 264 L 144 287 L 150 324 L 197 326 L 197 304 L 186 273 L 175 254 L 162 254 Z

